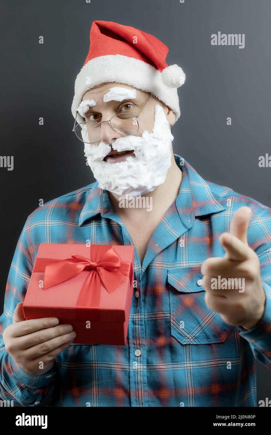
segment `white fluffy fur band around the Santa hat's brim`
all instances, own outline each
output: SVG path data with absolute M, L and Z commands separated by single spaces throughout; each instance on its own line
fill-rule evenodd
M 171 67 L 165 68 L 165 70 L 169 69 L 170 71 Z M 120 54 L 95 57 L 89 60 L 77 74 L 74 84 L 74 99 L 71 106 L 72 114 L 75 118 L 77 107 L 87 90 L 98 84 L 118 82 L 146 92 L 152 92 L 155 97 L 174 111 L 175 124 L 181 114 L 179 97 L 177 87 L 168 87 L 163 83 L 162 75 L 165 74 L 165 70 L 161 74 L 159 70 L 142 60 Z M 80 115 L 77 115 L 78 117 L 80 118 Z

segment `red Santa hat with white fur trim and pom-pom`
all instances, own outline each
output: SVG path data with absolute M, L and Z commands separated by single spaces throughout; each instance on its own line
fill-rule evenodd
M 174 111 L 176 122 L 181 114 L 177 87 L 184 84 L 185 74 L 178 65 L 167 65 L 167 53 L 168 47 L 150 33 L 112 21 L 93 21 L 89 52 L 74 84 L 74 118 L 87 90 L 118 82 L 152 92 Z

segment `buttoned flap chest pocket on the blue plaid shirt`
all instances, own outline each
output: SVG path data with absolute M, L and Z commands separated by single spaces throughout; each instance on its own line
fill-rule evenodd
M 223 343 L 232 326 L 210 310 L 197 268 L 168 269 L 171 335 L 182 345 Z

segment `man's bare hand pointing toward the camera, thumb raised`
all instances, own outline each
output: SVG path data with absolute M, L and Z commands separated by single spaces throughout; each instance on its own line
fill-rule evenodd
M 219 241 L 225 250 L 224 257 L 207 258 L 201 266 L 205 302 L 230 325 L 254 328 L 264 314 L 265 292 L 261 282 L 260 262 L 248 246 L 247 233 L 251 217 L 249 207 L 241 207 L 231 221 L 229 233 L 221 234 Z M 218 276 L 244 278 L 244 289 L 214 288 Z M 241 281 L 240 281 L 241 282 Z M 222 285 L 221 285 L 222 287 Z

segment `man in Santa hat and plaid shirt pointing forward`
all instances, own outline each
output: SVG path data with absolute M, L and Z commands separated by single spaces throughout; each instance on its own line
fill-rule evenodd
M 271 367 L 271 210 L 173 154 L 185 76 L 167 50 L 133 27 L 92 24 L 72 113 L 97 181 L 23 227 L 0 318 L 3 399 L 256 406 L 254 357 Z M 23 318 L 39 244 L 87 241 L 135 247 L 125 346 L 75 344 L 58 319 Z

